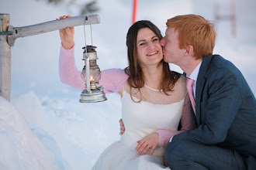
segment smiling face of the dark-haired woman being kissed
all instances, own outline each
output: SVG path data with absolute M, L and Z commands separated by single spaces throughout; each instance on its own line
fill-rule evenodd
M 163 59 L 159 38 L 149 29 L 140 29 L 137 34 L 137 57 L 140 66 L 158 64 Z

